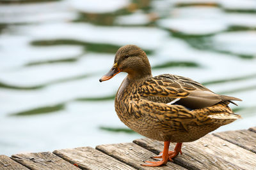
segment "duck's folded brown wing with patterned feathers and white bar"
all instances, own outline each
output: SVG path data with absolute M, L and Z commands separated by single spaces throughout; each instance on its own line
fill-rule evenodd
M 215 94 L 190 78 L 173 74 L 161 74 L 145 80 L 138 93 L 149 101 L 179 104 L 191 110 L 206 108 L 221 101 L 241 101 L 236 97 Z

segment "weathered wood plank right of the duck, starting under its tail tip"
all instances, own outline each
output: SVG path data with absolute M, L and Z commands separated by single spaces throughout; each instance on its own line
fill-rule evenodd
M 239 131 L 226 131 L 214 133 L 214 136 L 217 136 L 225 141 L 234 143 L 237 146 L 240 146 L 246 150 L 256 153 L 256 133 L 248 130 L 239 130 Z

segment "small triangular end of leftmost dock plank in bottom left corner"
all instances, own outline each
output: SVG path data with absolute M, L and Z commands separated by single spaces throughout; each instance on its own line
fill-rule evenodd
M 0 169 L 27 170 L 28 168 L 20 165 L 6 155 L 0 155 Z

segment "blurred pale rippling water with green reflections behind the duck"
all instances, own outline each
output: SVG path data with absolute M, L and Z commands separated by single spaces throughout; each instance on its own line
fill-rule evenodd
M 131 142 L 114 97 L 126 76 L 99 83 L 116 50 L 138 45 L 152 73 L 239 97 L 256 125 L 254 0 L 1 0 L 0 154 Z

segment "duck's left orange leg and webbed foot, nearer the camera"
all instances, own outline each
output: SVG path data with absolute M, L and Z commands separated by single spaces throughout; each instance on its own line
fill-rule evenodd
M 145 161 L 146 164 L 141 164 L 141 166 L 161 166 L 163 164 L 166 164 L 169 159 L 169 146 L 170 146 L 170 141 L 164 141 L 164 151 L 161 155 L 161 158 L 159 161 L 152 162 L 152 161 Z

